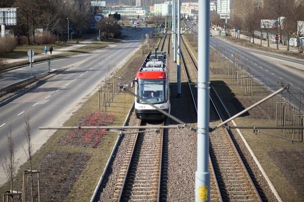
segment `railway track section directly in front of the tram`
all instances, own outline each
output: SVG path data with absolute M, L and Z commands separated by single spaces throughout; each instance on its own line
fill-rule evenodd
M 150 124 L 139 121 L 139 125 Z M 139 131 L 130 137 L 134 144 L 126 154 L 124 167 L 121 168 L 118 178 L 120 184 L 116 187 L 117 194 L 113 201 L 158 201 L 163 133 L 163 130 L 159 133 L 154 130 Z

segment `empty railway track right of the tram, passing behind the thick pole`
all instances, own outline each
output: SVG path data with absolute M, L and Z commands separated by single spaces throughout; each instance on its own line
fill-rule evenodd
M 183 65 L 189 81 L 189 89 L 192 91 L 194 102 L 197 103 L 197 89 L 193 83 L 197 81 L 197 67 L 192 59 L 191 54 L 188 52 L 186 45 L 182 39 L 183 49 L 186 52 L 182 55 Z M 187 67 L 188 64 L 192 67 Z M 191 69 L 192 68 L 192 69 Z M 196 76 L 195 74 L 196 73 Z M 222 122 L 224 115 L 218 109 L 219 102 L 214 102 L 215 96 L 210 96 L 210 124 L 212 128 Z M 195 104 L 197 106 L 197 104 Z M 196 107 L 197 109 L 197 107 Z M 235 141 L 231 139 L 232 132 L 227 131 L 225 128 L 218 128 L 210 132 L 210 148 L 209 154 L 213 167 L 213 174 L 216 177 L 217 189 L 223 201 L 243 200 L 243 201 L 262 201 L 265 200 L 262 190 L 255 180 L 250 168 L 246 168 L 243 162 L 246 159 L 239 154 L 240 150 L 237 149 Z M 209 161 L 210 163 L 210 161 Z M 248 172 L 249 170 L 249 172 Z M 212 176 L 212 173 L 211 173 Z M 211 182 L 212 183 L 212 182 Z M 257 189 L 257 188 L 258 189 Z M 212 188 L 212 184 L 211 184 Z M 260 196 L 261 194 L 261 196 Z M 210 199 L 213 199 L 212 194 Z

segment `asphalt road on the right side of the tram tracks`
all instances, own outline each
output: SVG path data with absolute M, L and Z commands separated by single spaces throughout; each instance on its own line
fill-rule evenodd
M 191 27 L 191 33 L 198 32 L 197 25 L 192 25 L 190 22 L 185 22 L 188 27 Z M 231 44 L 220 37 L 216 37 L 217 32 L 212 32 L 210 37 L 210 46 L 216 49 L 221 49 L 222 55 L 234 61 L 235 58 L 243 61 L 250 66 L 250 74 L 262 85 L 272 91 L 281 88 L 281 82 L 284 85 L 289 83 L 289 91 L 291 94 L 291 105 L 301 109 L 304 113 L 304 97 L 301 94 L 300 104 L 300 89 L 304 91 L 304 61 L 289 58 L 282 55 L 271 54 L 255 49 L 241 47 Z M 289 93 L 284 90 L 283 97 L 289 100 Z

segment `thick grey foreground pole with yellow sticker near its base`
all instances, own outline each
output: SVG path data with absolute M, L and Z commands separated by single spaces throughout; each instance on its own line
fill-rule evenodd
M 210 1 L 199 0 L 198 129 L 195 201 L 210 201 L 209 172 L 209 26 Z

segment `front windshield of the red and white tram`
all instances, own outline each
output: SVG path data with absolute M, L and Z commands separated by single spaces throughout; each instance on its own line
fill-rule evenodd
M 165 100 L 165 79 L 139 79 L 138 95 L 151 104 L 162 104 Z M 140 104 L 144 104 L 139 100 Z

